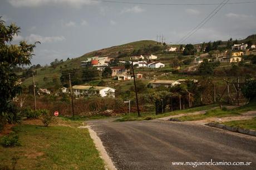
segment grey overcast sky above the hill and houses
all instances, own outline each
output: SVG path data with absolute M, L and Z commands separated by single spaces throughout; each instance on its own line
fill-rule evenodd
M 142 3 L 221 3 L 223 0 L 116 0 Z M 255 0 L 230 0 L 229 3 Z M 168 6 L 90 0 L 1 0 L 0 16 L 22 28 L 15 41 L 40 41 L 33 64 L 75 58 L 142 39 L 176 43 L 218 5 Z M 245 38 L 256 33 L 256 3 L 226 4 L 184 43 Z

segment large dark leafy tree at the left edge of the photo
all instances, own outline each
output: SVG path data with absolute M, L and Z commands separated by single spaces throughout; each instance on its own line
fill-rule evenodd
M 13 69 L 31 64 L 33 49 L 36 47 L 36 43 L 27 44 L 25 41 L 19 42 L 18 45 L 11 44 L 13 37 L 18 35 L 20 29 L 14 23 L 6 26 L 0 17 L 0 114 L 6 112 L 8 103 L 22 89 Z

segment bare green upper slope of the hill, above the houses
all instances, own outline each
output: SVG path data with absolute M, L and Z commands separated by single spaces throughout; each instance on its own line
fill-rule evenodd
M 49 82 L 52 82 L 52 79 L 54 77 L 59 78 L 61 75 L 61 71 L 65 71 L 67 69 L 73 69 L 73 68 L 80 68 L 81 61 L 85 60 L 88 57 L 118 57 L 121 53 L 130 53 L 134 51 L 135 49 L 147 47 L 149 45 L 157 46 L 156 41 L 150 41 L 150 40 L 143 40 L 143 41 L 136 41 L 131 42 L 127 44 L 122 44 L 120 46 L 113 46 L 110 48 L 103 48 L 97 51 L 92 51 L 90 53 L 83 54 L 81 57 L 73 58 L 68 61 L 64 61 L 60 64 L 58 64 L 55 68 L 54 67 L 43 67 L 35 69 L 37 72 L 35 76 L 35 82 L 38 84 L 38 87 L 40 88 L 48 88 Z M 47 78 L 47 81 L 44 81 L 44 78 Z M 28 87 L 30 84 L 32 84 L 32 77 L 29 77 L 25 79 L 22 83 L 24 86 Z M 53 83 L 51 84 L 54 85 Z

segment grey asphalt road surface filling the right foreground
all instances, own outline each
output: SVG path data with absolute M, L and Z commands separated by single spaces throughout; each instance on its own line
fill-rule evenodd
M 256 137 L 169 121 L 87 122 L 117 169 L 256 169 Z M 252 162 L 251 166 L 173 166 L 172 162 Z

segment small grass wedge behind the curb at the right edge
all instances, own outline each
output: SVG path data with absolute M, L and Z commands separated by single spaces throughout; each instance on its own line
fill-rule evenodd
M 230 121 L 230 122 L 224 122 L 223 124 L 227 126 L 232 127 L 240 127 L 244 129 L 253 129 L 256 131 L 256 117 L 249 120 L 243 120 L 243 121 Z

